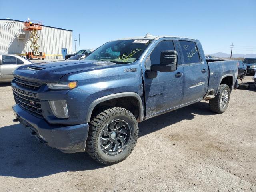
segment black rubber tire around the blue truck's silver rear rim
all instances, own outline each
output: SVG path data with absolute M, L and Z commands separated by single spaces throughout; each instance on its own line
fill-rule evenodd
M 226 106 L 224 108 L 220 107 L 220 102 L 222 100 L 222 93 L 227 90 L 228 91 L 228 102 L 226 104 Z M 213 98 L 209 100 L 209 106 L 210 106 L 210 110 L 212 112 L 215 113 L 223 113 L 224 111 L 226 111 L 227 107 L 228 107 L 228 103 L 229 103 L 229 99 L 230 99 L 230 88 L 228 85 L 226 84 L 221 84 L 218 90 L 217 95 Z

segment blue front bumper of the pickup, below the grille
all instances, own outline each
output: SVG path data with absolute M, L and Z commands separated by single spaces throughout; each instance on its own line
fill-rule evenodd
M 12 108 L 19 122 L 30 128 L 32 135 L 36 136 L 41 142 L 64 153 L 85 151 L 88 123 L 69 126 L 49 124 L 44 118 L 30 114 L 17 104 Z

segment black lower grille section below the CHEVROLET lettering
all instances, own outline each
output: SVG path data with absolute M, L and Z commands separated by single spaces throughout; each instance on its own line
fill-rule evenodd
M 13 95 L 14 95 L 16 103 L 19 106 L 21 106 L 31 112 L 34 112 L 36 114 L 42 115 L 40 99 L 24 96 L 14 90 L 13 90 Z

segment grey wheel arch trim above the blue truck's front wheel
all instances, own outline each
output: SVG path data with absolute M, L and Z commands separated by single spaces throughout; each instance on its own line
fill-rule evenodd
M 107 95 L 101 98 L 98 98 L 96 100 L 94 100 L 86 113 L 86 122 L 90 122 L 91 118 L 92 118 L 92 112 L 94 111 L 94 108 L 98 105 L 101 104 L 103 102 L 109 101 L 109 100 L 113 100 L 113 99 L 118 99 L 118 98 L 134 98 L 136 99 L 136 101 L 138 102 L 138 122 L 141 122 L 143 120 L 143 116 L 144 116 L 144 108 L 143 108 L 143 104 L 142 104 L 142 99 L 140 97 L 140 95 L 138 93 L 135 92 L 123 92 L 123 93 L 116 93 L 116 94 L 111 94 L 111 95 Z

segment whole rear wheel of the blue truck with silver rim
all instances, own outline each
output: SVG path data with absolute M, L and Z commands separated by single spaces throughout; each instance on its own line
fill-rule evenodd
M 217 95 L 210 99 L 210 110 L 215 113 L 223 113 L 226 111 L 230 98 L 230 88 L 226 84 L 221 84 Z

